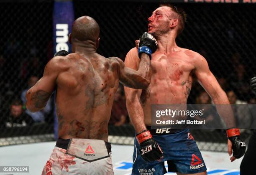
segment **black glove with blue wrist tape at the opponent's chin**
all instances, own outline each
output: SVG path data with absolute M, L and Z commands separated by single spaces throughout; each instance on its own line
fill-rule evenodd
M 139 47 L 138 47 L 138 54 L 141 58 L 141 53 L 146 53 L 151 59 L 151 53 L 154 53 L 157 49 L 157 41 L 154 36 L 145 32 L 140 37 Z

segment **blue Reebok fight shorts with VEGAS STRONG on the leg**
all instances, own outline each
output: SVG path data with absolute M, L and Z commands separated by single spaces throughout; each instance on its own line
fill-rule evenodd
M 166 173 L 164 161 L 167 161 L 168 172 L 199 173 L 207 170 L 189 129 L 147 128 L 159 144 L 164 158 L 161 159 L 161 162 L 145 162 L 141 158 L 140 146 L 135 137 L 132 175 L 163 175 Z

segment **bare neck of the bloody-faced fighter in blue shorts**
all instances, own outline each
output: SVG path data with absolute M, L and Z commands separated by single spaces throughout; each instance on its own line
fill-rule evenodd
M 161 36 L 157 38 L 158 50 L 163 53 L 173 53 L 179 48 L 175 41 L 176 36 Z

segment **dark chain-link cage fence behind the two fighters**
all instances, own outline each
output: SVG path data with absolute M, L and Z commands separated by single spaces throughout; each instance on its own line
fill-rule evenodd
M 134 41 L 147 31 L 147 19 L 159 7 L 159 1 L 74 0 L 73 3 L 75 18 L 89 15 L 99 23 L 98 52 L 105 57 L 117 56 L 123 60 L 135 46 Z M 204 56 L 222 88 L 235 94 L 237 103 L 255 104 L 249 81 L 256 75 L 256 5 L 178 5 L 186 11 L 187 23 L 177 38 L 177 45 Z M 42 76 L 44 66 L 53 57 L 53 8 L 54 2 L 49 0 L 0 2 L 2 146 L 54 140 L 53 99 L 37 114 L 26 111 L 24 106 L 26 91 Z M 200 95 L 203 92 L 195 81 L 188 103 L 202 103 Z M 22 113 L 19 115 L 24 120 L 13 118 L 17 111 Z M 127 114 L 123 122 L 117 119 L 116 123 L 109 126 L 110 142 L 132 145 L 134 130 Z M 247 140 L 250 132 L 243 130 L 241 137 Z M 192 134 L 200 149 L 226 151 L 225 131 L 193 130 Z

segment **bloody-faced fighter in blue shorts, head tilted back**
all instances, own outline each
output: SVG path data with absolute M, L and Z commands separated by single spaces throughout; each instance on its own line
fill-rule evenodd
M 182 32 L 185 21 L 184 11 L 172 5 L 161 5 L 148 18 L 148 33 L 158 42 L 151 59 L 151 84 L 146 90 L 125 87 L 128 113 L 137 133 L 133 175 L 162 175 L 166 173 L 164 161 L 168 163 L 168 171 L 177 172 L 178 175 L 206 174 L 205 162 L 189 129 L 166 129 L 161 134 L 151 129 L 151 104 L 187 104 L 193 77 L 205 88 L 215 104 L 229 104 L 205 58 L 177 46 L 175 38 Z M 125 66 L 137 70 L 139 63 L 137 48 L 132 48 L 126 55 Z M 243 156 L 245 145 L 239 138 L 239 129 L 233 128 L 232 109 L 225 109 L 231 115 L 226 115 L 218 107 L 217 110 L 227 127 L 231 128 L 227 130 L 227 135 L 229 155 L 232 154 L 231 147 L 233 149 L 232 162 Z

